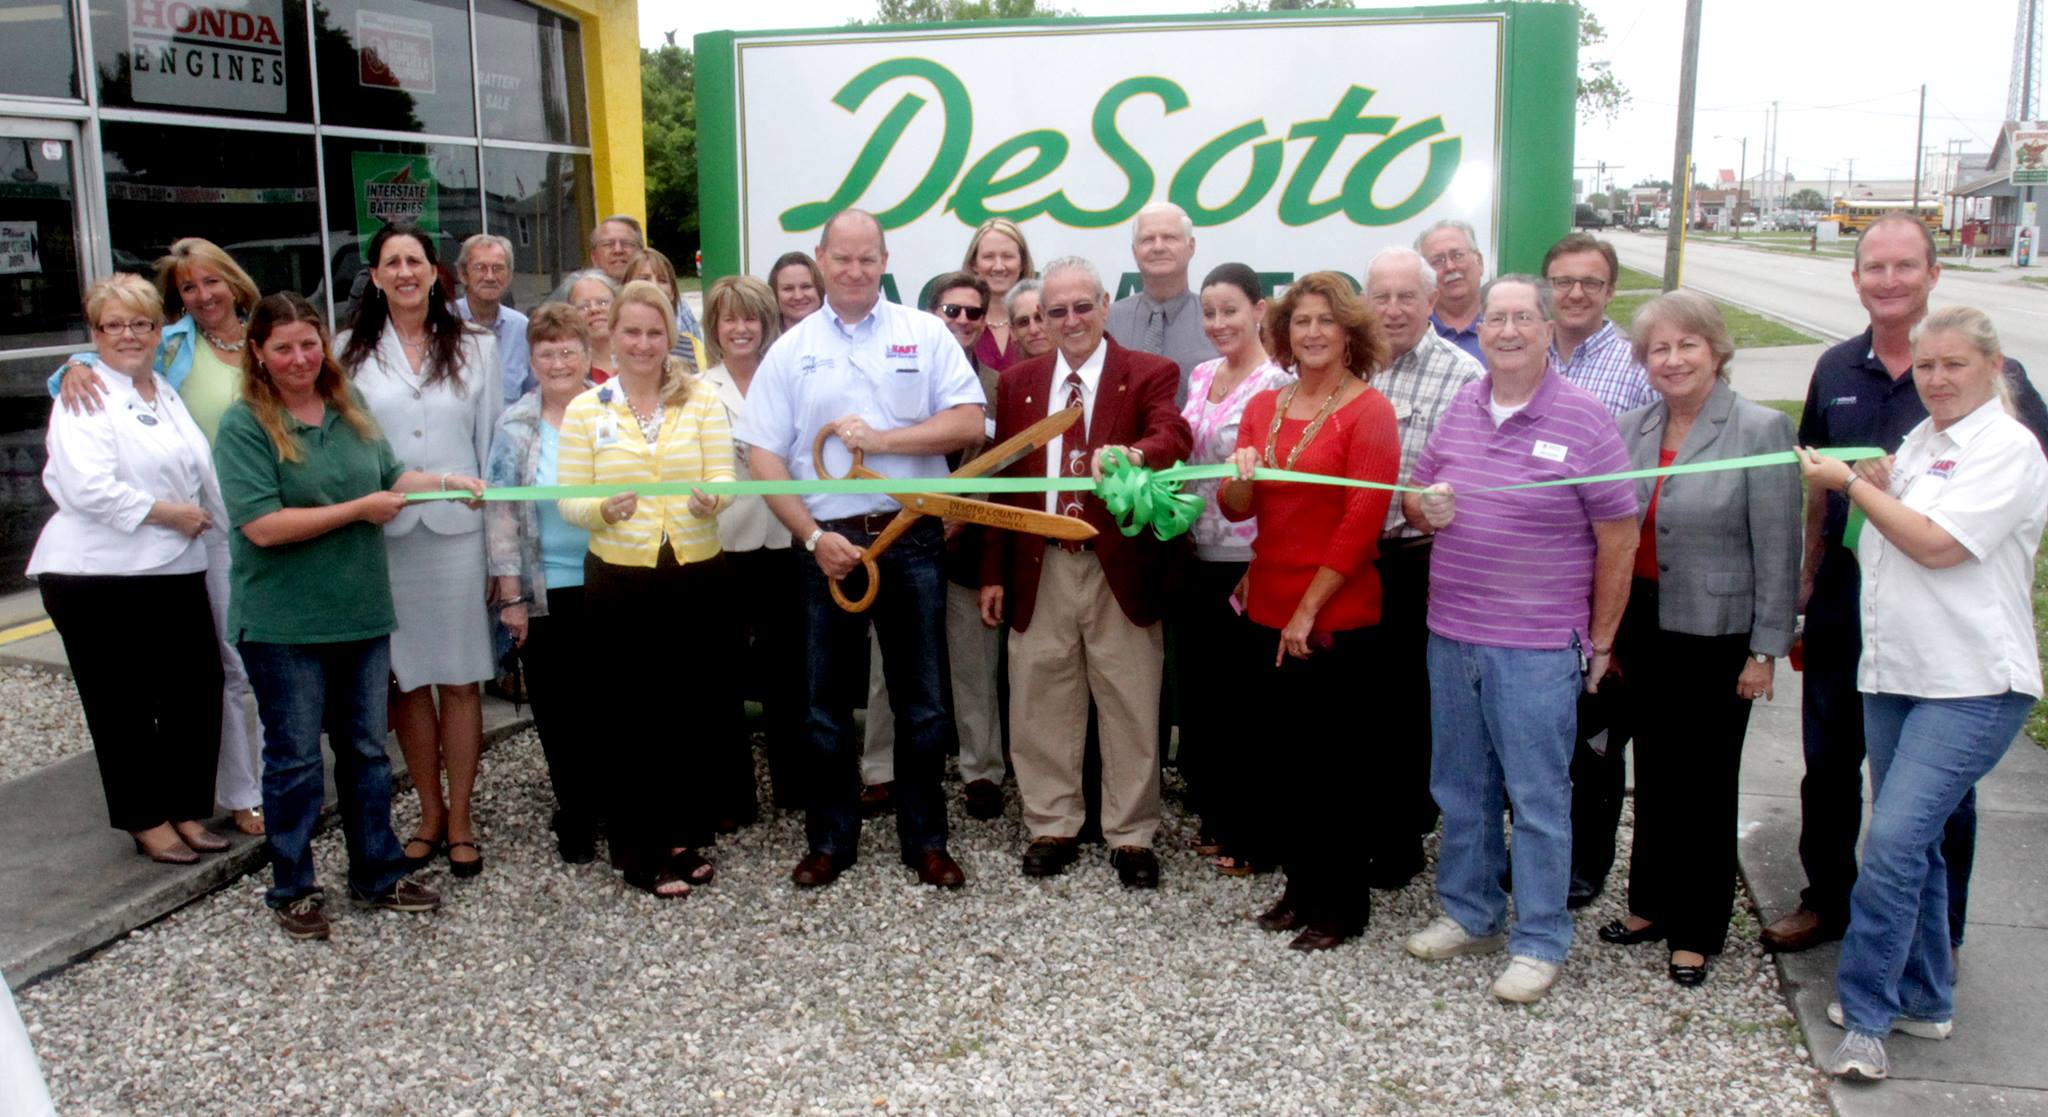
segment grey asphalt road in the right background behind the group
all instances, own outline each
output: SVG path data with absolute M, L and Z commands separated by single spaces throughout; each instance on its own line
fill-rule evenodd
M 1624 264 L 1663 273 L 1661 232 L 1620 232 L 1612 240 Z M 2034 271 L 2048 275 L 2048 268 Z M 1827 340 L 1860 334 L 1870 324 L 1849 283 L 1847 260 L 1692 240 L 1681 279 L 1686 287 L 1782 318 Z M 1933 289 L 1933 305 L 1950 303 L 1989 314 L 2005 353 L 2028 367 L 2036 387 L 2048 391 L 2048 289 L 2019 283 L 2003 266 L 1989 273 L 1950 268 Z

